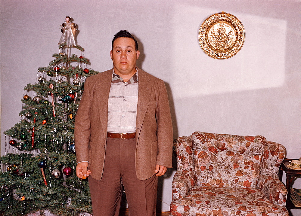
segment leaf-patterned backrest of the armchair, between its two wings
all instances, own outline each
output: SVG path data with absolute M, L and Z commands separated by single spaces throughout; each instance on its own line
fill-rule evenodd
M 192 141 L 198 186 L 256 187 L 263 136 L 194 132 Z

